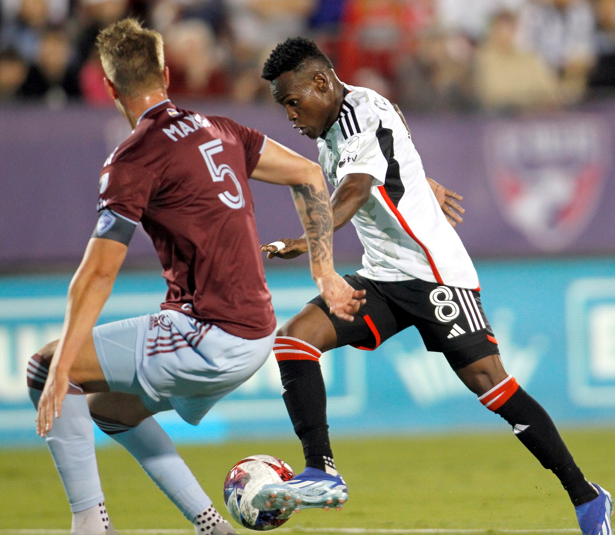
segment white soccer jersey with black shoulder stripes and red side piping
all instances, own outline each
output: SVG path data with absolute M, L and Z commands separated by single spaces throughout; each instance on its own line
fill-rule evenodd
M 477 288 L 472 260 L 391 103 L 365 87 L 347 85 L 344 93 L 338 120 L 318 139 L 319 161 L 336 188 L 350 173 L 374 177 L 370 199 L 352 218 L 365 248 L 359 275 Z

